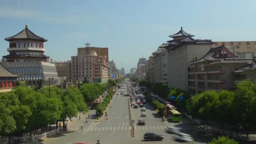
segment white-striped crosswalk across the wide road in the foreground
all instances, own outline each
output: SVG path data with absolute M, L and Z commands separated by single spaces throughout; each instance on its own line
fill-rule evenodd
M 147 130 L 164 130 L 167 128 L 166 126 L 134 126 L 134 130 L 136 131 L 147 131 Z M 80 128 L 72 128 L 69 129 L 69 131 L 127 131 L 131 130 L 131 126 L 108 126 L 108 127 L 91 127 L 89 126 L 88 128 L 84 128 L 81 130 Z

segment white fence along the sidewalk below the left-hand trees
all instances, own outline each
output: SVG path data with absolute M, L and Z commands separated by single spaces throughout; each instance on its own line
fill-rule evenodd
M 69 122 L 70 123 L 70 122 Z M 42 134 L 38 134 L 36 136 L 13 136 L 10 138 L 11 143 L 13 142 L 24 142 L 22 144 L 33 144 L 35 143 L 35 141 L 37 141 L 37 139 L 43 139 L 45 137 L 51 136 L 51 135 L 55 135 L 57 133 L 61 133 L 62 128 L 58 128 L 52 131 L 48 131 Z M 8 143 L 8 137 L 7 136 L 3 136 L 0 138 L 0 144 L 5 144 Z

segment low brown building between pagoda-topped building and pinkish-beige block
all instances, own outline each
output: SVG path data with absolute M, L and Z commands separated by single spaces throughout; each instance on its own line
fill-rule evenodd
M 65 80 L 71 81 L 71 61 L 53 62 L 53 64 L 55 64 L 58 77 L 65 77 Z

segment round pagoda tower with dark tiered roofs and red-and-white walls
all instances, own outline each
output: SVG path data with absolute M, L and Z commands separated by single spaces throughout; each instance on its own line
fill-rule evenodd
M 43 47 L 43 43 L 47 40 L 35 35 L 28 29 L 28 25 L 18 34 L 5 38 L 5 40 L 9 41 L 9 48 L 7 48 L 9 55 L 3 56 L 7 62 L 32 62 L 49 59 L 49 56 L 44 55 L 45 48 Z

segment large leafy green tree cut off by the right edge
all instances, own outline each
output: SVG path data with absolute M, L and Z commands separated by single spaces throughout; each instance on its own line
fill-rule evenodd
M 243 80 L 236 85 L 234 98 L 234 116 L 237 122 L 245 128 L 248 136 L 249 128 L 255 124 L 253 104 L 256 99 L 256 84 L 251 80 Z M 239 114 L 239 115 L 237 115 Z

